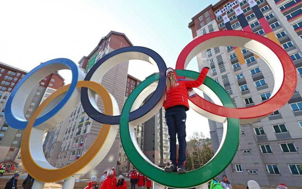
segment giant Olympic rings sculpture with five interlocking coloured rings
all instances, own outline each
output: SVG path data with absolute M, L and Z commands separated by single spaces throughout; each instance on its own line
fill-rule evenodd
M 261 120 L 278 110 L 288 102 L 297 85 L 294 63 L 278 44 L 260 35 L 236 30 L 213 32 L 189 43 L 177 60 L 178 76 L 196 79 L 199 73 L 184 70 L 190 60 L 206 49 L 229 45 L 248 49 L 265 60 L 274 74 L 275 87 L 271 98 L 264 103 L 253 107 L 235 108 L 224 88 L 213 79 L 206 77 L 203 85 L 198 89 L 206 93 L 215 104 L 199 96 L 189 98 L 189 103 L 199 114 L 223 123 L 223 139 L 214 157 L 203 167 L 182 175 L 167 173 L 150 162 L 137 145 L 133 126 L 153 117 L 165 100 L 166 65 L 153 50 L 131 46 L 104 56 L 95 63 L 86 76 L 74 62 L 61 58 L 37 66 L 16 85 L 8 98 L 5 118 L 11 127 L 25 129 L 21 143 L 21 160 L 24 168 L 41 182 L 55 182 L 73 175 L 79 177 L 101 162 L 120 128 L 121 142 L 129 160 L 156 183 L 173 188 L 188 188 L 199 186 L 214 178 L 230 164 L 236 154 L 240 140 L 240 123 Z M 122 114 L 119 115 L 114 97 L 99 83 L 110 68 L 120 62 L 133 59 L 157 65 L 159 73 L 146 78 L 133 90 L 124 104 Z M 30 91 L 46 75 L 60 69 L 71 69 L 71 84 L 51 94 L 27 121 L 23 109 Z M 77 90 L 77 87 L 82 87 L 81 91 Z M 140 107 L 143 100 L 151 93 L 153 95 L 150 100 Z M 99 94 L 103 100 L 104 114 L 96 105 L 94 100 L 96 94 Z M 88 116 L 103 123 L 103 126 L 95 143 L 81 158 L 64 168 L 54 168 L 43 155 L 43 132 L 65 119 L 80 101 Z

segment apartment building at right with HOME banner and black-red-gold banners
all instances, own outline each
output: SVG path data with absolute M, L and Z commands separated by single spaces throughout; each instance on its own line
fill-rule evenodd
M 290 55 L 297 68 L 298 84 L 284 107 L 261 121 L 241 125 L 238 152 L 219 179 L 225 174 L 236 184 L 255 180 L 259 185 L 302 186 L 301 2 L 256 0 L 255 6 L 253 1 L 234 2 L 222 0 L 195 15 L 188 26 L 193 38 L 226 29 L 268 37 Z M 226 89 L 236 107 L 254 106 L 271 96 L 274 75 L 264 60 L 246 49 L 214 47 L 199 54 L 197 61 L 199 71 L 203 66 L 210 67 L 208 76 Z M 205 99 L 210 101 L 206 95 Z M 222 140 L 222 124 L 209 120 L 209 126 L 216 152 Z

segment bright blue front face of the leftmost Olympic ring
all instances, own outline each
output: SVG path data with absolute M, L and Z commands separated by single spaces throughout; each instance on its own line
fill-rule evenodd
M 73 91 L 76 89 L 76 85 L 77 85 L 78 78 L 79 78 L 78 66 L 72 60 L 66 59 L 66 58 L 58 58 L 58 59 L 53 59 L 53 60 L 49 60 L 47 62 L 44 62 L 43 64 L 40 64 L 36 68 L 32 69 L 29 73 L 27 73 L 24 76 L 24 78 L 22 78 L 21 81 L 17 83 L 17 85 L 14 87 L 13 91 L 11 92 L 11 94 L 10 94 L 8 100 L 7 100 L 6 106 L 5 106 L 5 120 L 6 120 L 6 122 L 8 123 L 8 125 L 10 127 L 14 128 L 14 129 L 24 130 L 25 127 L 27 126 L 27 123 L 28 123 L 28 121 L 20 121 L 20 120 L 16 119 L 14 117 L 14 115 L 12 114 L 11 104 L 12 104 L 12 101 L 14 99 L 14 96 L 15 96 L 16 92 L 18 91 L 20 86 L 33 73 L 39 71 L 39 69 L 41 69 L 45 66 L 51 65 L 51 64 L 64 64 L 64 65 L 68 66 L 70 68 L 71 72 L 72 72 L 72 81 L 71 81 L 71 84 L 70 84 L 70 87 L 69 87 L 68 91 L 66 92 L 66 94 L 64 95 L 62 100 L 52 110 L 50 110 L 48 113 L 46 113 L 45 115 L 37 118 L 37 120 L 34 123 L 34 127 L 44 123 L 45 121 L 47 121 L 48 119 L 53 117 L 56 113 L 58 113 L 58 111 L 66 104 L 66 102 L 71 97 Z M 36 83 L 34 83 L 34 85 L 35 84 Z

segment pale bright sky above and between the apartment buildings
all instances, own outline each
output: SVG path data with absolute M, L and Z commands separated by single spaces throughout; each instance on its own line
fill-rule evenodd
M 126 34 L 134 46 L 156 51 L 175 68 L 193 39 L 188 23 L 209 1 L 0 1 L 0 62 L 30 71 L 40 62 L 68 58 L 78 63 L 111 30 Z M 194 58 L 189 70 L 198 71 Z M 158 70 L 130 61 L 130 75 L 143 80 Z M 70 82 L 70 71 L 59 72 Z M 187 111 L 187 139 L 194 131 L 209 137 L 206 118 Z

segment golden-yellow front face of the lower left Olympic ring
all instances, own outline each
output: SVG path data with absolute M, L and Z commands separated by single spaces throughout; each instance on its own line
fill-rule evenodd
M 32 115 L 31 119 L 28 121 L 28 124 L 24 130 L 22 143 L 21 143 L 21 154 L 22 154 L 21 161 L 23 163 L 25 170 L 34 179 L 37 179 L 38 181 L 41 182 L 60 181 L 80 171 L 83 167 L 85 167 L 89 162 L 92 161 L 92 159 L 95 157 L 95 155 L 103 146 L 108 136 L 108 133 L 110 131 L 111 125 L 103 124 L 101 131 L 98 134 L 98 137 L 96 138 L 92 146 L 88 149 L 88 151 L 80 159 L 76 160 L 74 163 L 66 167 L 59 168 L 59 169 L 46 169 L 36 164 L 36 162 L 31 156 L 31 152 L 29 148 L 31 130 L 34 125 L 34 122 L 36 118 L 39 116 L 39 114 L 43 111 L 43 109 L 47 106 L 47 104 L 49 104 L 58 95 L 66 92 L 69 88 L 69 85 L 59 88 L 57 91 L 51 94 L 47 99 L 45 99 L 45 101 L 37 108 L 37 110 L 34 111 L 34 114 Z M 110 95 L 102 85 L 92 81 L 79 81 L 76 87 L 87 87 L 96 91 L 103 100 L 104 113 L 108 115 L 113 115 L 113 105 Z

